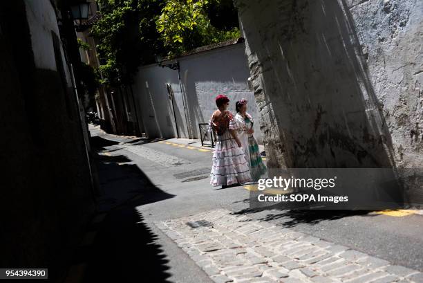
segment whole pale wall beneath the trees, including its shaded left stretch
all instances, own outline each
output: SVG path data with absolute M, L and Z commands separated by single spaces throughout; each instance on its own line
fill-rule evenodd
M 178 71 L 157 65 L 140 68 L 133 86 L 149 137 L 176 137 L 175 118 L 167 94 L 170 84 L 175 97 L 175 112 L 181 138 L 200 138 L 198 123 L 208 122 L 216 109 L 214 98 L 225 93 L 230 110 L 235 113 L 235 102 L 241 98 L 250 101 L 248 109 L 258 119 L 254 93 L 248 88 L 250 72 L 243 43 L 178 58 Z M 181 91 L 182 86 L 182 91 Z M 259 122 L 254 123 L 257 140 L 261 143 Z

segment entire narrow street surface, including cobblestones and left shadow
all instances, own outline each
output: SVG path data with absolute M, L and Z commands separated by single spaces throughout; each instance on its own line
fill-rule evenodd
M 419 210 L 252 211 L 211 150 L 90 131 L 103 197 L 67 282 L 423 282 Z

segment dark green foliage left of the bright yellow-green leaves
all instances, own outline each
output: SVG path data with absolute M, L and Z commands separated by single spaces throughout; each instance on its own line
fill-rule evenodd
M 128 84 L 140 64 L 163 52 L 156 30 L 160 0 L 97 0 L 101 18 L 92 33 L 99 44 L 100 71 L 111 84 Z

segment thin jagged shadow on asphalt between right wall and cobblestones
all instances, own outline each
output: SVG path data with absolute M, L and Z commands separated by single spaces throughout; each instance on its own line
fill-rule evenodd
M 275 224 L 286 228 L 295 227 L 303 223 L 314 225 L 321 221 L 337 220 L 357 215 L 375 216 L 374 214 L 369 214 L 373 212 L 370 210 L 280 210 L 280 212 L 274 212 L 274 210 L 269 210 L 269 208 L 247 208 L 233 214 L 254 214 L 267 210 L 269 213 L 259 217 L 260 221 L 276 221 Z

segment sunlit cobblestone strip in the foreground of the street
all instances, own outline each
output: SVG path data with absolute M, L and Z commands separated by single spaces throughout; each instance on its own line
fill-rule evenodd
M 156 226 L 216 283 L 423 282 L 419 271 L 229 210 Z

